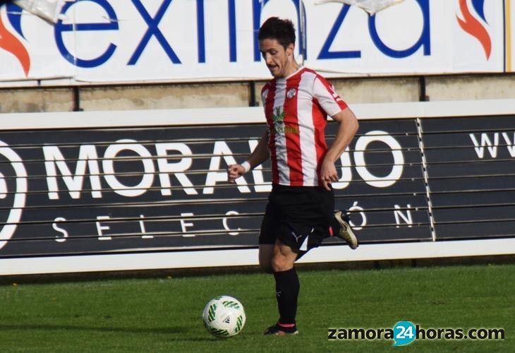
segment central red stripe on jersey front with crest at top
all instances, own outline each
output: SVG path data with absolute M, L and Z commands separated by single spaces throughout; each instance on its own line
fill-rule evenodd
M 301 134 L 298 126 L 297 97 L 298 84 L 302 75 L 295 75 L 286 80 L 286 97 L 284 98 L 284 136 L 286 138 L 287 162 L 290 172 L 290 186 L 303 186 Z

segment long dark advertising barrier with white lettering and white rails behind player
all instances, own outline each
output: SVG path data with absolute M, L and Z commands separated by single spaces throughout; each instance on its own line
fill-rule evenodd
M 515 253 L 515 100 L 356 104 L 336 204 L 361 245 L 303 262 Z M 262 108 L 4 114 L 0 275 L 257 264 Z M 334 137 L 336 123 L 327 136 Z

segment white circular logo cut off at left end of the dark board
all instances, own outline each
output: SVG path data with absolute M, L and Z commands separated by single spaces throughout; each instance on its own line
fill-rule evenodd
M 6 143 L 0 141 L 0 158 L 1 157 L 4 157 L 11 162 L 11 167 L 13 167 L 14 173 L 16 174 L 16 178 L 11 177 L 11 180 L 14 180 L 16 191 L 14 193 L 8 192 L 9 183 L 6 182 L 6 174 L 0 172 L 0 200 L 8 199 L 9 194 L 14 195 L 13 206 L 9 211 L 4 227 L 0 230 L 0 249 L 7 244 L 7 240 L 11 239 L 14 232 L 16 232 L 16 227 L 18 227 L 18 222 L 20 222 L 21 219 L 21 213 L 25 207 L 25 198 L 27 195 L 27 170 L 25 170 L 25 166 L 23 165 L 23 161 L 20 156 L 14 152 L 14 150 L 9 148 Z

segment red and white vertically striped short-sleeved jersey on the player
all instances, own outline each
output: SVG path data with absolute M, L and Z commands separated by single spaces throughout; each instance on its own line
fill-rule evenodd
M 347 104 L 332 85 L 309 68 L 274 78 L 261 91 L 268 125 L 272 183 L 321 186 L 320 169 L 327 153 L 327 115 Z

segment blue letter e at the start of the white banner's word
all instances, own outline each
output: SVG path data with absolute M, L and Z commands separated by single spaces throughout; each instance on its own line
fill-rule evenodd
M 111 7 L 109 2 L 107 0 L 80 0 L 80 1 L 91 1 L 95 4 L 101 6 L 104 8 L 104 10 L 107 12 L 107 16 L 110 19 L 109 23 L 80 23 L 78 25 L 75 25 L 75 28 L 72 24 L 63 25 L 63 21 L 59 20 L 55 27 L 54 27 L 54 37 L 56 39 L 57 48 L 59 49 L 59 52 L 61 52 L 61 55 L 63 56 L 66 61 L 69 63 L 82 67 L 82 68 L 92 68 L 97 67 L 102 64 L 104 64 L 109 58 L 113 55 L 114 50 L 116 49 L 116 45 L 113 43 L 109 44 L 109 47 L 107 47 L 104 54 L 98 56 L 95 59 L 85 60 L 80 59 L 76 56 L 73 56 L 63 42 L 63 32 L 73 32 L 75 30 L 118 30 L 118 18 L 116 18 L 116 13 L 114 12 L 114 9 Z M 77 3 L 71 3 L 67 2 L 63 8 L 61 9 L 61 13 L 66 14 L 66 11 L 68 11 L 71 6 Z

